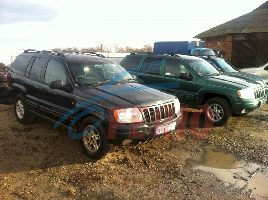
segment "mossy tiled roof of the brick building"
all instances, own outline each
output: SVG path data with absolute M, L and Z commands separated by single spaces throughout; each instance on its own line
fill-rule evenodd
M 267 33 L 268 1 L 261 6 L 233 20 L 213 27 L 193 38 L 214 37 L 232 33 Z

